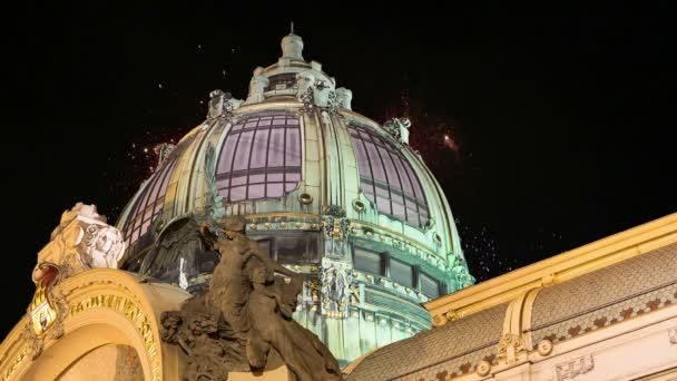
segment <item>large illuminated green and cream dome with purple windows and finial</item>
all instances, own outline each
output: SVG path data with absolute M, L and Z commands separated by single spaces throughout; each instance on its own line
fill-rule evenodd
M 202 244 L 163 242 L 194 216 L 243 215 L 247 235 L 306 281 L 295 319 L 345 363 L 430 328 L 420 305 L 474 282 L 442 189 L 408 144 L 410 124 L 351 109 L 352 92 L 303 40 L 254 70 L 248 96 L 210 94 L 207 119 L 176 147 L 118 221 L 122 268 L 188 291 L 218 261 Z M 413 126 L 415 128 L 415 126 Z M 165 237 L 165 238 L 163 238 Z

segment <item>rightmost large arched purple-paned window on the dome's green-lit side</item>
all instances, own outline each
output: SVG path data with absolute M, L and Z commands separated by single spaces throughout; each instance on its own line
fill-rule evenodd
M 379 212 L 424 226 L 429 219 L 428 203 L 421 182 L 398 147 L 370 127 L 350 125 L 360 188 Z

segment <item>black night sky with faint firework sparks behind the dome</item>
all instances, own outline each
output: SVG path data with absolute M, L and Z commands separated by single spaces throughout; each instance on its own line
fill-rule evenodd
M 677 211 L 667 1 L 415 3 L 52 2 L 6 14 L 0 336 L 30 302 L 61 213 L 82 201 L 115 222 L 153 147 L 200 124 L 210 90 L 245 98 L 290 20 L 354 110 L 411 118 L 478 281 Z

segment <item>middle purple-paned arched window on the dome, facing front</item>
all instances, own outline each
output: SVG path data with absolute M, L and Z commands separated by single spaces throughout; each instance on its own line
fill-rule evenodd
M 218 156 L 218 194 L 226 202 L 282 197 L 300 180 L 298 117 L 285 111 L 238 117 Z

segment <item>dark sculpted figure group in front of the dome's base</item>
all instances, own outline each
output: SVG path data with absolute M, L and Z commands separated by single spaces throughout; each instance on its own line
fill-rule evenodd
M 259 252 L 244 234 L 243 217 L 226 217 L 213 231 L 200 227 L 220 253 L 209 290 L 160 318 L 163 340 L 188 354 L 185 379 L 226 380 L 230 371 L 284 363 L 300 381 L 340 380 L 338 363 L 326 346 L 292 320 L 303 277 Z

